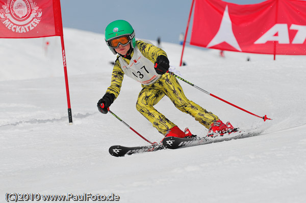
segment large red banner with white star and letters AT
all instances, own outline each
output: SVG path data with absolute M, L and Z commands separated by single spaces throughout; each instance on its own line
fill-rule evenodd
M 196 0 L 190 44 L 267 54 L 306 54 L 306 1 L 237 5 Z

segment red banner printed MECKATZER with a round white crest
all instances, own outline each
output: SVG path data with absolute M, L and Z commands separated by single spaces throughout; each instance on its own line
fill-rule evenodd
M 0 0 L 0 38 L 62 35 L 60 0 Z

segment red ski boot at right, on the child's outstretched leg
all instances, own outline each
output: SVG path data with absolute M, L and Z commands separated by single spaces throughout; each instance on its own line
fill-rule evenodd
M 231 134 L 232 132 L 238 131 L 237 128 L 234 128 L 230 122 L 224 124 L 220 119 L 214 121 L 209 128 L 208 137 L 223 136 L 225 133 Z

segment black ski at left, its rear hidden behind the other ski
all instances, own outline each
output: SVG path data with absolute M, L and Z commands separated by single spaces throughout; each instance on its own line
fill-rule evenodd
M 136 153 L 144 152 L 155 152 L 158 150 L 163 150 L 165 147 L 162 144 L 157 144 L 155 146 L 140 146 L 140 147 L 124 147 L 120 145 L 114 145 L 110 147 L 109 153 L 115 157 L 123 157 L 124 155 L 131 155 Z

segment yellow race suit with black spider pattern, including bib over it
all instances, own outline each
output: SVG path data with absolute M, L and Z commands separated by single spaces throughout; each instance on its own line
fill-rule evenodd
M 133 49 L 130 59 L 126 59 L 120 55 L 117 56 L 113 68 L 111 85 L 106 93 L 114 94 L 116 99 L 120 93 L 123 76 L 126 73 L 129 77 L 142 83 L 143 89 L 138 95 L 136 108 L 160 133 L 165 135 L 169 129 L 176 126 L 154 108 L 154 105 L 165 95 L 173 102 L 176 108 L 192 115 L 196 121 L 209 129 L 211 124 L 218 120 L 217 115 L 208 112 L 206 109 L 188 100 L 175 76 L 170 73 L 163 75 L 159 75 L 156 72 L 152 73 L 151 65 L 154 66 L 158 55 L 167 56 L 161 48 L 143 41 L 136 41 L 136 47 Z M 141 63 L 141 60 L 138 60 L 141 57 L 145 57 L 144 60 L 146 61 Z M 137 64 L 141 67 L 138 69 L 139 71 L 133 70 L 133 65 Z M 143 64 L 145 65 L 143 66 Z M 148 79 L 145 79 L 146 75 L 149 75 L 147 77 Z

